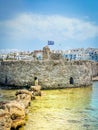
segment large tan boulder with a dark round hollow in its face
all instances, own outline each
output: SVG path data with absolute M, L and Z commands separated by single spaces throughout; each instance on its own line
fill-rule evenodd
M 25 109 L 17 101 L 10 101 L 4 105 L 5 110 L 10 113 L 12 119 L 11 127 L 16 129 L 25 124 Z

